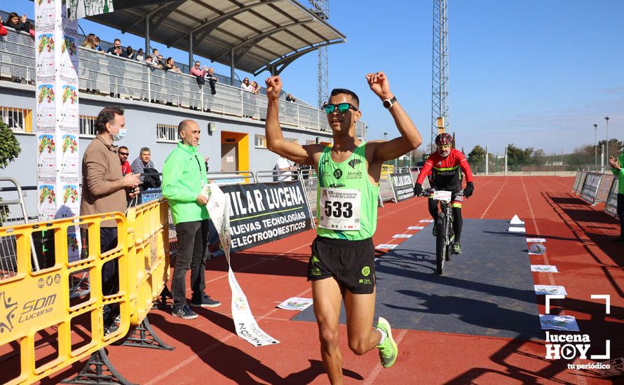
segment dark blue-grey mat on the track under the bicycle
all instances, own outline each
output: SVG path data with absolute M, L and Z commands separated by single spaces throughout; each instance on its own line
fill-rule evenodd
M 508 232 L 508 221 L 464 219 L 463 253 L 440 276 L 431 226 L 377 260 L 376 317 L 400 329 L 543 338 L 524 233 Z M 312 307 L 292 319 L 316 322 Z

